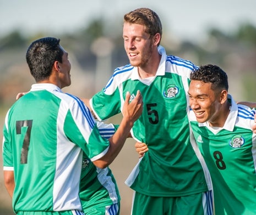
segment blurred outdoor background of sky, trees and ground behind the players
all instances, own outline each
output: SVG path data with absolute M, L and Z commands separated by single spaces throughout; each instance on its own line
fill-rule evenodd
M 255 0 L 0 0 L 0 139 L 4 116 L 15 96 L 35 83 L 25 61 L 32 41 L 61 38 L 72 64 L 72 85 L 63 91 L 90 98 L 105 86 L 116 67 L 129 63 L 123 48 L 123 15 L 139 7 L 151 8 L 160 16 L 161 45 L 167 54 L 196 65 L 221 66 L 237 101 L 256 100 Z M 117 115 L 108 122 L 118 123 L 120 118 Z M 122 197 L 122 215 L 130 213 L 132 203 L 133 192 L 124 181 L 138 161 L 134 143 L 127 140 L 111 165 Z M 0 157 L 2 166 L 2 153 Z M 2 168 L 0 191 L 0 215 L 13 214 Z

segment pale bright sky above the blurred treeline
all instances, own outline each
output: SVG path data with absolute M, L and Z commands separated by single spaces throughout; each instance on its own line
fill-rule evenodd
M 164 33 L 192 41 L 204 38 L 210 27 L 229 33 L 243 22 L 256 26 L 255 0 L 0 0 L 0 37 L 14 29 L 73 32 L 100 16 L 116 25 L 125 13 L 139 7 L 155 10 Z

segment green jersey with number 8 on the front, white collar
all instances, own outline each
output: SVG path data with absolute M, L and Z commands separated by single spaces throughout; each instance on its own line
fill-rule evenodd
M 252 132 L 255 110 L 232 100 L 224 127 L 189 119 L 195 140 L 213 180 L 215 214 L 256 214 L 256 134 Z

